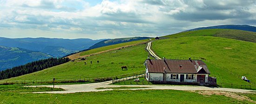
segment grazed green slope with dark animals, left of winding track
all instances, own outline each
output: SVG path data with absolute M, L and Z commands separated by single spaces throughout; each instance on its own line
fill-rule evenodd
M 71 78 L 99 78 L 121 75 L 126 73 L 133 73 L 145 70 L 143 63 L 148 56 L 145 50 L 146 44 L 136 45 L 133 47 L 123 48 L 120 50 L 113 50 L 98 55 L 86 57 L 87 65 L 80 59 L 74 62 L 69 61 L 59 66 L 50 67 L 35 73 L 22 75 L 6 80 L 51 80 L 55 77 L 59 79 Z M 97 60 L 100 63 L 97 63 Z M 90 64 L 90 61 L 93 63 Z M 113 63 L 112 63 L 113 62 Z M 122 71 L 121 67 L 127 66 L 128 70 Z

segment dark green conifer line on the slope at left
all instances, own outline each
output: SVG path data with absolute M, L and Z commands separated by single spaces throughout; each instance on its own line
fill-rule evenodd
M 28 73 L 33 73 L 49 67 L 54 67 L 66 63 L 68 61 L 70 61 L 69 58 L 48 58 L 44 60 L 33 61 L 25 65 L 8 68 L 6 70 L 0 71 L 0 80 L 17 77 Z

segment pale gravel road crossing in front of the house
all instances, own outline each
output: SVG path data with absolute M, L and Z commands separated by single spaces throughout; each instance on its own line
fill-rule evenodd
M 42 87 L 42 86 L 27 86 L 27 87 Z M 44 87 L 53 87 L 53 85 L 47 85 Z M 218 88 L 218 87 L 206 87 L 206 86 L 177 86 L 177 85 L 113 85 L 112 81 L 80 84 L 80 85 L 55 85 L 55 88 L 62 88 L 66 91 L 54 91 L 54 92 L 33 92 L 33 93 L 75 93 L 75 92 L 101 92 L 113 90 L 109 89 L 96 89 L 96 88 L 109 88 L 109 87 L 148 87 L 148 88 L 136 88 L 136 89 L 121 89 L 121 90 L 182 90 L 182 91 L 225 91 L 225 92 L 241 92 L 241 93 L 254 93 L 253 90 L 232 89 L 232 88 Z

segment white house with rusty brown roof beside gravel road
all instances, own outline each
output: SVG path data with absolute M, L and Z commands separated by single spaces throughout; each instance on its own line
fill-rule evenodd
M 201 60 L 145 61 L 146 79 L 164 82 L 208 83 L 209 70 Z

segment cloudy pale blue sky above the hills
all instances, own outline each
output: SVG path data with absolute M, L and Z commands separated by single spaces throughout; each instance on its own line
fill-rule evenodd
M 156 37 L 256 26 L 256 0 L 0 0 L 0 37 Z

